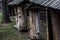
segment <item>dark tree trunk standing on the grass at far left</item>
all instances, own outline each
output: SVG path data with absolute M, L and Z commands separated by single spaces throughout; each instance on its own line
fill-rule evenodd
M 8 2 L 7 0 L 2 0 L 2 23 L 10 23 L 10 18 L 8 14 Z

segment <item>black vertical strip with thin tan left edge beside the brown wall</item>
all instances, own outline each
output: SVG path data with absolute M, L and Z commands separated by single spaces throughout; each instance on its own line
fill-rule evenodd
M 53 28 L 52 28 L 52 20 L 51 20 L 51 11 L 50 8 L 46 8 L 46 20 L 47 20 L 47 28 L 48 28 L 48 39 L 53 40 Z

